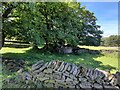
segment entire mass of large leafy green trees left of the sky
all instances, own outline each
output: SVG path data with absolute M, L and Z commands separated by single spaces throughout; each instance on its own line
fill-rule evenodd
M 101 42 L 94 13 L 77 2 L 3 2 L 2 38 L 26 41 L 44 49 L 58 45 L 94 45 Z

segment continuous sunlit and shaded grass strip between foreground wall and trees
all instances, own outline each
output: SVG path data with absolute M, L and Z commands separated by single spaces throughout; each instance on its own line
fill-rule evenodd
M 96 47 L 97 48 L 97 47 Z M 107 69 L 111 72 L 115 72 L 118 68 L 118 54 L 114 53 L 102 53 L 101 55 L 91 55 L 91 54 L 51 54 L 51 53 L 41 53 L 36 52 L 29 48 L 12 48 L 3 47 L 0 51 L 2 57 L 10 59 L 21 59 L 25 60 L 28 65 L 32 65 L 39 60 L 51 61 L 51 60 L 61 60 L 70 63 L 75 63 L 78 65 L 84 65 L 90 68 Z

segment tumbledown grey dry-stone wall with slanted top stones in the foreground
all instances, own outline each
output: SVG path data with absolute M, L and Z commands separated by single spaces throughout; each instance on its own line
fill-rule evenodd
M 119 90 L 120 72 L 110 72 L 77 66 L 63 61 L 43 62 L 32 65 L 29 72 L 22 72 L 22 79 L 46 88 L 78 88 L 90 90 Z M 40 85 L 41 86 L 41 85 Z M 37 86 L 39 88 L 39 86 Z

